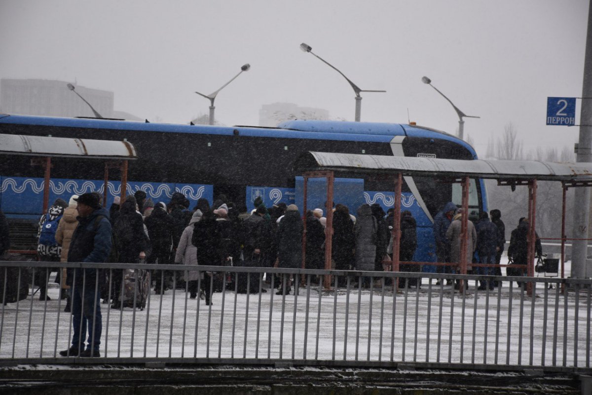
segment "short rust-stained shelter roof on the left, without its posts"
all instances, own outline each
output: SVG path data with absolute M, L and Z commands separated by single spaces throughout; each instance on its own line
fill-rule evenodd
M 0 134 L 0 154 L 88 159 L 136 159 L 127 141 L 69 139 L 64 137 Z

